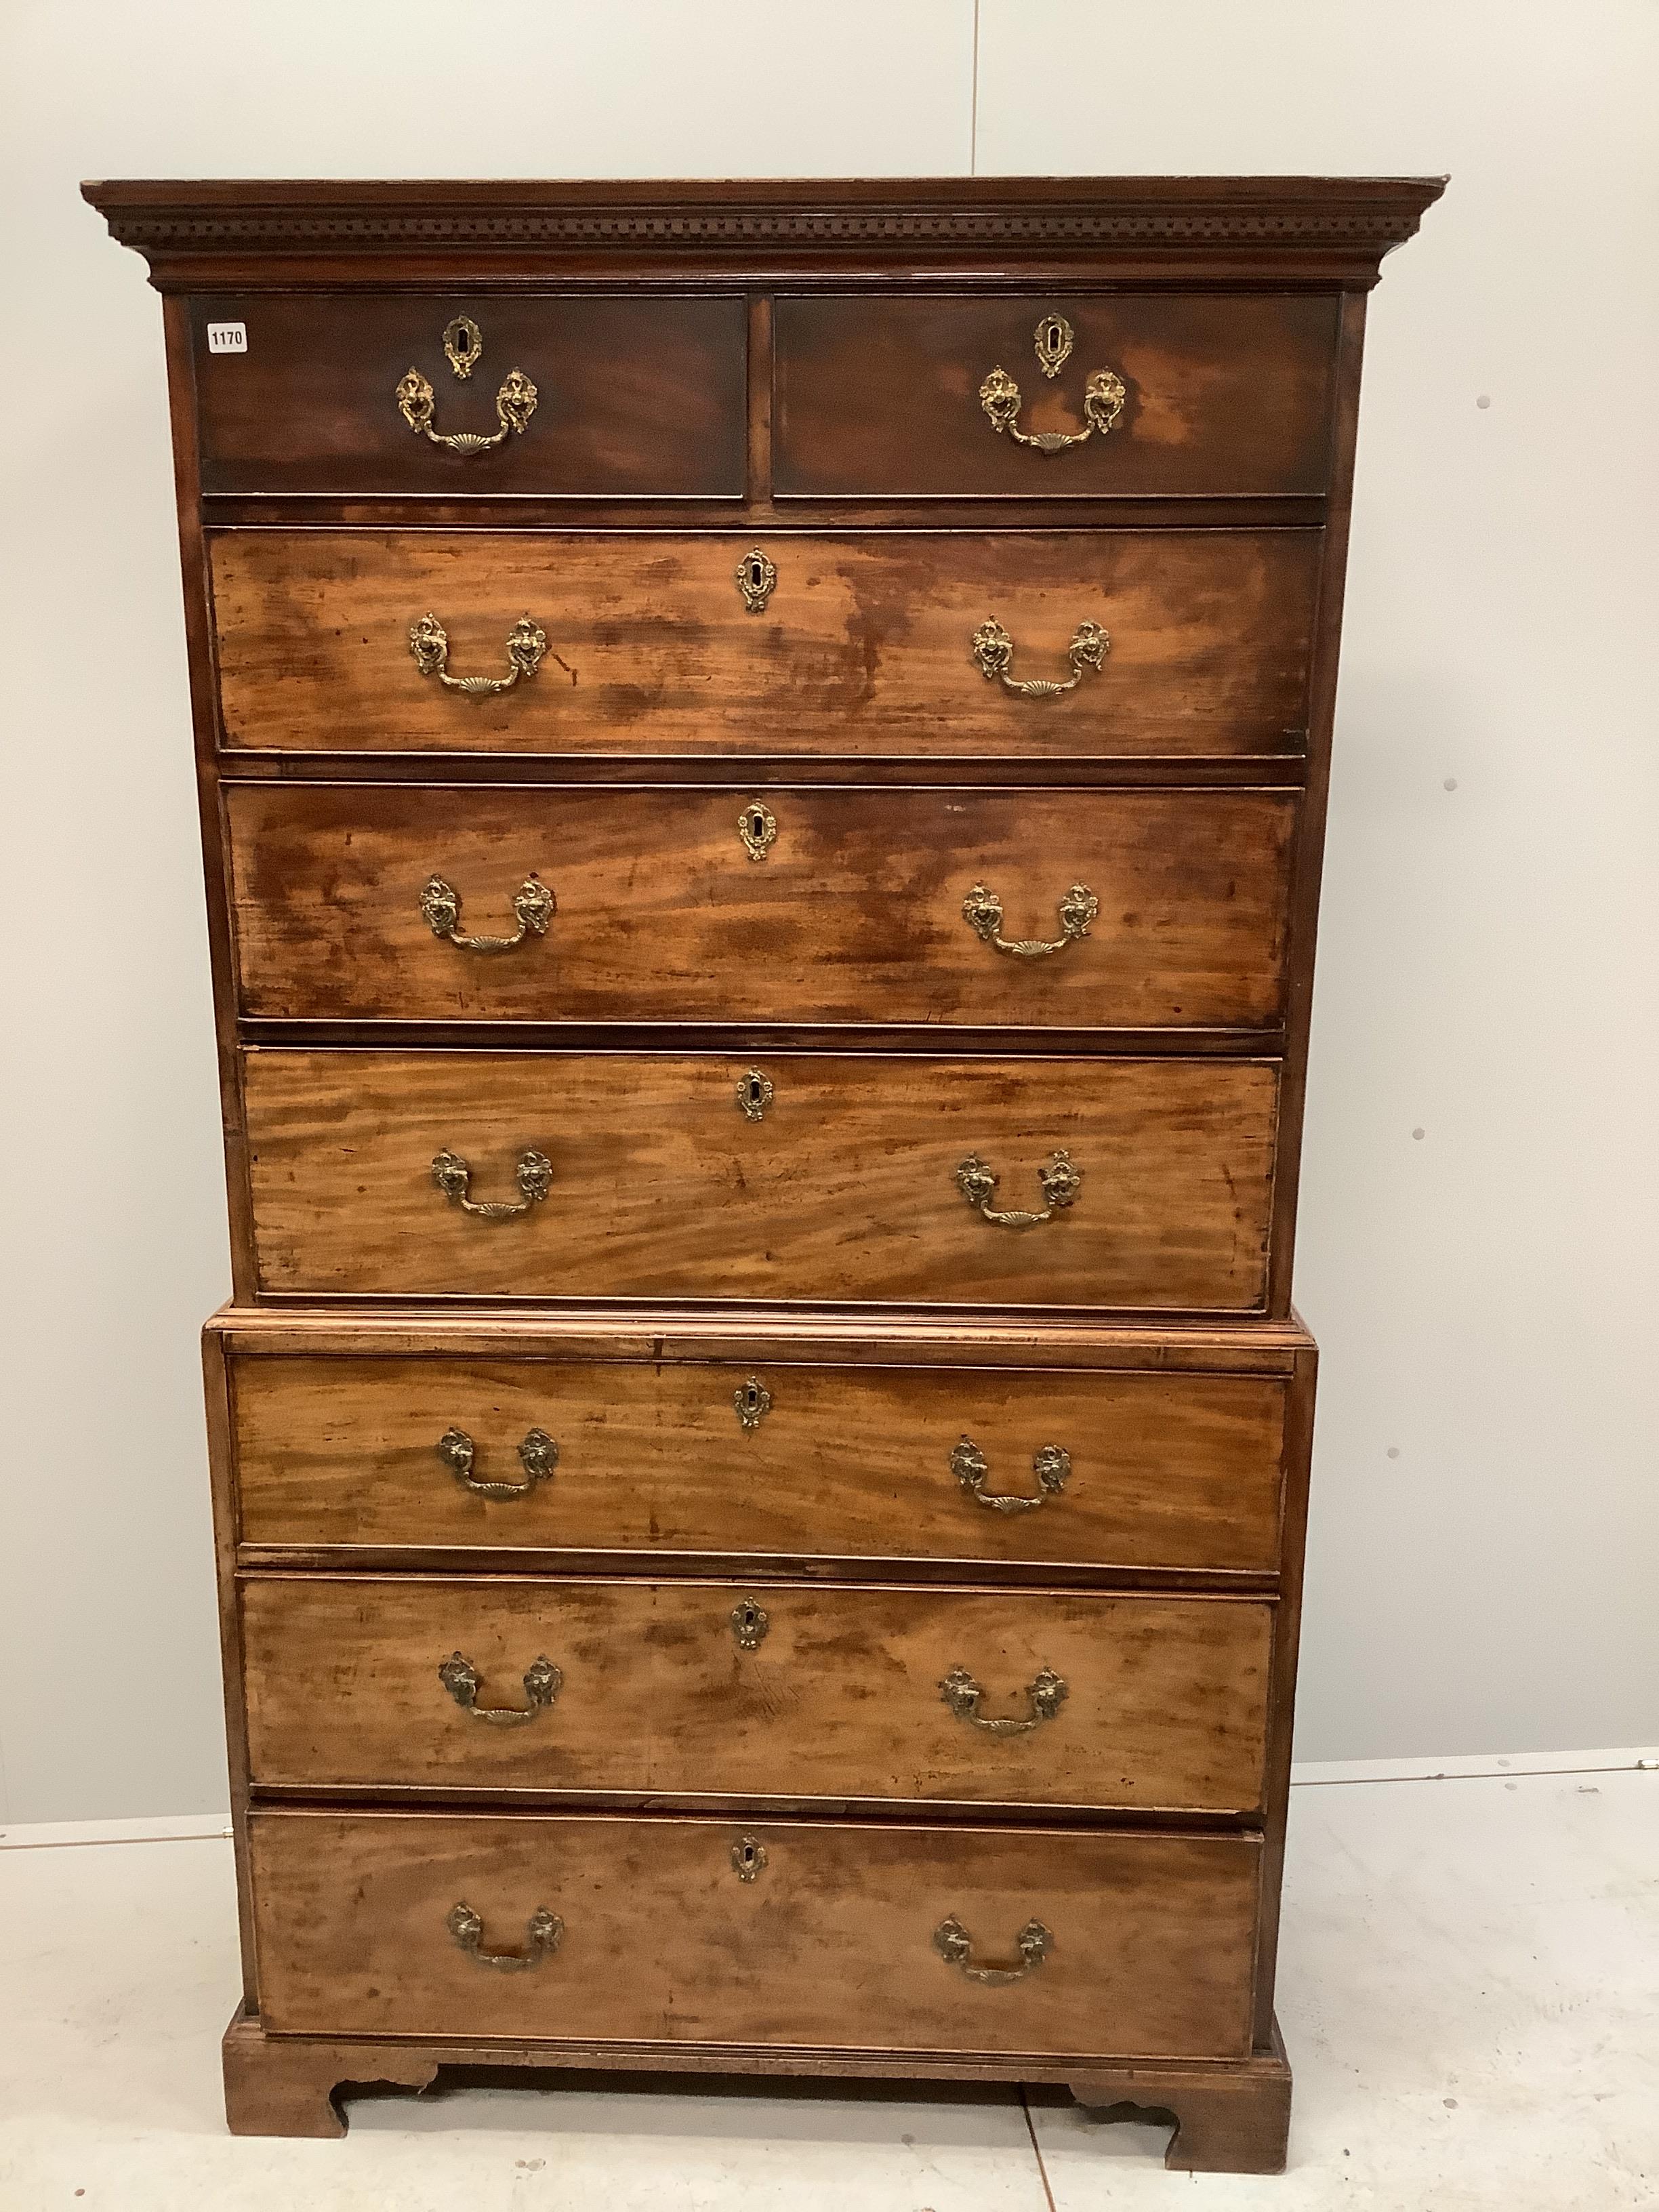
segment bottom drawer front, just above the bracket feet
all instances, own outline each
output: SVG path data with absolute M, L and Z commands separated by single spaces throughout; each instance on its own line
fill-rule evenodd
M 272 2033 L 1250 2051 L 1254 1836 L 307 1812 L 250 1832 Z

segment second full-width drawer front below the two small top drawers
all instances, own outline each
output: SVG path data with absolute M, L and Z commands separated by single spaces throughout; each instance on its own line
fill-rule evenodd
M 254 783 L 228 792 L 228 825 L 252 1015 L 1283 1018 L 1290 792 Z

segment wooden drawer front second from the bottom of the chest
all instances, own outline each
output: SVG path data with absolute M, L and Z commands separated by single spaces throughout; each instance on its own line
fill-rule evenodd
M 241 1610 L 259 1785 L 1261 1805 L 1263 1599 L 250 1575 Z

